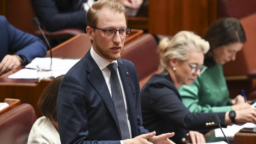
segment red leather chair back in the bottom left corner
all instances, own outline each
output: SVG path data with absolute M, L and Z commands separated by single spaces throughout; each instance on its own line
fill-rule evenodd
M 26 144 L 37 116 L 30 104 L 21 104 L 0 115 L 0 143 Z

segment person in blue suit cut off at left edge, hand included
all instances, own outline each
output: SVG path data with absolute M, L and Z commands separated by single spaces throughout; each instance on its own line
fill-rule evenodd
M 35 57 L 45 57 L 47 48 L 43 41 L 18 30 L 0 15 L 0 76 Z

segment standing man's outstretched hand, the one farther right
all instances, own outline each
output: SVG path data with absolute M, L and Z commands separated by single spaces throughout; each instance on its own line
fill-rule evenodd
M 173 141 L 169 139 L 169 137 L 173 137 L 173 136 L 174 136 L 174 133 L 164 133 L 164 134 L 149 138 L 149 141 L 152 142 L 153 144 L 175 144 Z

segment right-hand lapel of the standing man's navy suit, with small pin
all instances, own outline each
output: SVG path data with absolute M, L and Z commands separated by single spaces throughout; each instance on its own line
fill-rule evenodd
M 129 77 L 128 68 L 122 63 L 122 59 L 118 60 L 118 70 L 120 77 L 122 79 L 122 85 L 124 87 L 124 93 L 126 97 L 127 109 L 128 109 L 128 119 L 130 120 L 131 129 L 132 129 L 132 137 L 137 136 L 137 116 L 135 109 L 135 102 L 133 99 L 133 93 L 131 90 L 131 83 Z M 128 73 L 127 73 L 128 72 Z

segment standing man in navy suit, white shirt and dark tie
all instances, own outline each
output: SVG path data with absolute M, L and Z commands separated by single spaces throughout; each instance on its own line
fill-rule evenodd
M 95 2 L 87 12 L 87 24 L 92 47 L 69 70 L 59 88 L 61 143 L 173 144 L 169 137 L 174 133 L 155 136 L 155 131 L 149 133 L 142 126 L 137 72 L 132 62 L 121 59 L 124 40 L 130 33 L 121 1 Z M 119 90 L 112 87 L 112 64 L 117 65 Z M 121 91 L 120 101 L 115 100 L 117 91 Z M 123 107 L 116 107 L 119 102 L 124 102 Z

